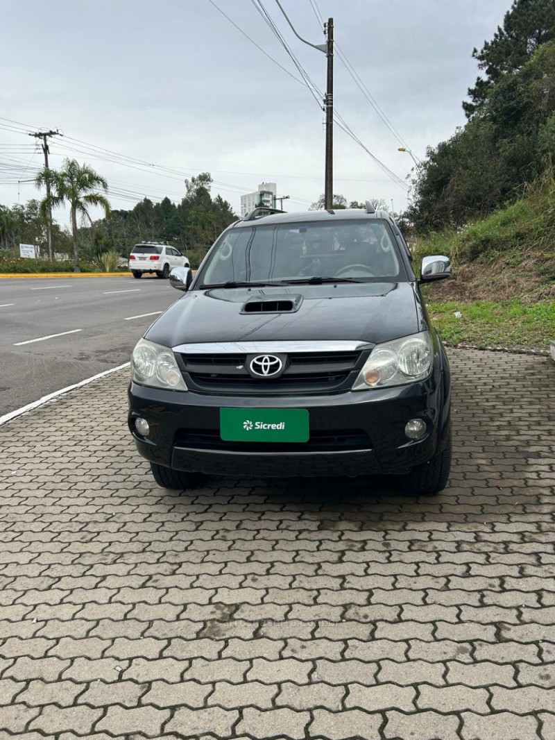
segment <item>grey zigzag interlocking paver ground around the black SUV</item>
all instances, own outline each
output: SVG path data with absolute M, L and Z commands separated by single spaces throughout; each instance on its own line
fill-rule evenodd
M 0 427 L 0 738 L 554 740 L 555 366 L 449 355 L 437 497 L 164 491 L 126 371 Z

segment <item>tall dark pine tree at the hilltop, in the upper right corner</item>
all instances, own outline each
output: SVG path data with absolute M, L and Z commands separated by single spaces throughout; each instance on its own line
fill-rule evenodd
M 494 38 L 472 52 L 485 78 L 477 78 L 468 88 L 471 101 L 462 103 L 467 117 L 480 110 L 502 75 L 519 70 L 538 47 L 554 38 L 555 0 L 514 0 Z

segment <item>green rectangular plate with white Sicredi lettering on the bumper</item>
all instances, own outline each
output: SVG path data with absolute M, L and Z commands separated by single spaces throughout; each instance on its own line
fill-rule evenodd
M 226 442 L 308 442 L 306 408 L 221 408 L 220 437 Z

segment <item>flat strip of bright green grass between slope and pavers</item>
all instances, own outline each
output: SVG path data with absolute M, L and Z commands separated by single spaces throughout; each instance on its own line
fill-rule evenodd
M 443 341 L 451 346 L 545 351 L 550 340 L 555 340 L 553 300 L 540 300 L 530 306 L 517 299 L 431 301 L 428 312 Z M 462 314 L 460 318 L 457 312 Z

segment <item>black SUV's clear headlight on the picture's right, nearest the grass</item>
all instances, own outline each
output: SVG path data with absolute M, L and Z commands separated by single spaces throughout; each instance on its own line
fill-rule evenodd
M 430 374 L 433 360 L 434 348 L 429 332 L 377 344 L 364 363 L 353 390 L 403 386 L 424 380 Z

